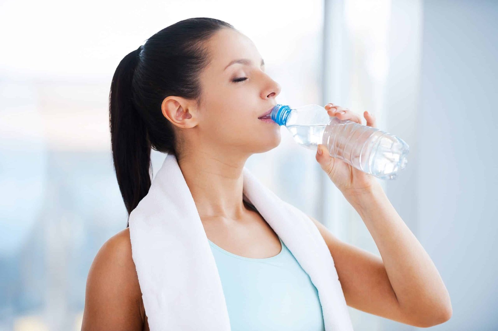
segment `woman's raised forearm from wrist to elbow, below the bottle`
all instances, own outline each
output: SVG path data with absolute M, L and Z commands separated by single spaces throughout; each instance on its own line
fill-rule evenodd
M 380 185 L 361 194 L 345 195 L 355 208 L 382 257 L 400 307 L 416 317 L 451 316 L 448 291 L 436 266 L 400 218 Z

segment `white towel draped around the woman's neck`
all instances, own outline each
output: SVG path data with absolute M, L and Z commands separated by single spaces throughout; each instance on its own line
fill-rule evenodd
M 325 330 L 353 330 L 334 261 L 315 224 L 246 167 L 243 194 L 310 276 L 318 290 Z M 166 155 L 149 192 L 131 212 L 129 233 L 151 331 L 230 331 L 218 268 L 173 154 Z

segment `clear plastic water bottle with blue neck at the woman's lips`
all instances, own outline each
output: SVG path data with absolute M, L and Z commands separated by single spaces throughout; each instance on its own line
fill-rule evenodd
M 285 125 L 294 140 L 315 150 L 318 144 L 327 146 L 332 157 L 380 179 L 396 179 L 404 169 L 409 146 L 402 139 L 368 125 L 330 116 L 318 105 L 290 108 L 276 105 L 270 117 Z

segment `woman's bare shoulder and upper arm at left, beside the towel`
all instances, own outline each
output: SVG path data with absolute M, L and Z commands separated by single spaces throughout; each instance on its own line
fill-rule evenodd
M 141 331 L 142 307 L 129 228 L 125 228 L 102 245 L 90 266 L 81 330 Z

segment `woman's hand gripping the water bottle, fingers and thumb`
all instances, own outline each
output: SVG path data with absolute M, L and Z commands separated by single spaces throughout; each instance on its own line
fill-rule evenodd
M 325 109 L 329 116 L 335 116 L 341 120 L 349 119 L 362 124 L 362 118 L 349 109 L 344 109 L 334 104 L 327 104 Z M 365 111 L 363 115 L 368 126 L 376 127 L 375 117 L 371 113 Z M 335 186 L 344 195 L 366 192 L 372 189 L 374 185 L 378 185 L 373 175 L 356 169 L 339 158 L 332 157 L 324 144 L 318 144 L 315 158 L 322 170 L 327 173 Z

